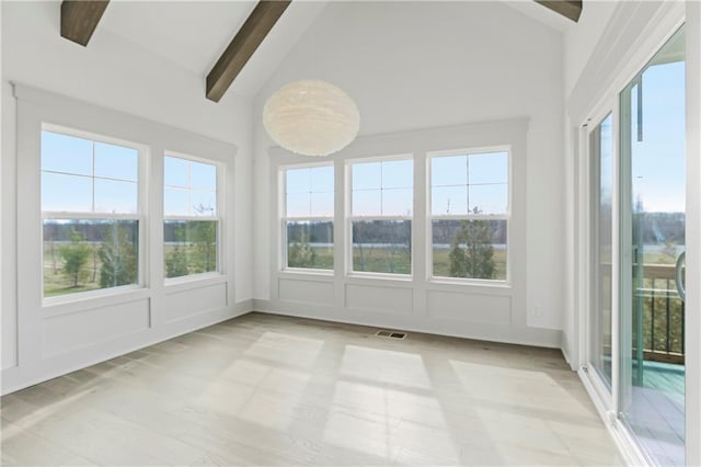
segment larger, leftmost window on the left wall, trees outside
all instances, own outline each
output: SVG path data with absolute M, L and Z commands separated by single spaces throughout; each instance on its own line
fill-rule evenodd
M 42 130 L 44 297 L 138 284 L 139 151 L 66 133 Z

